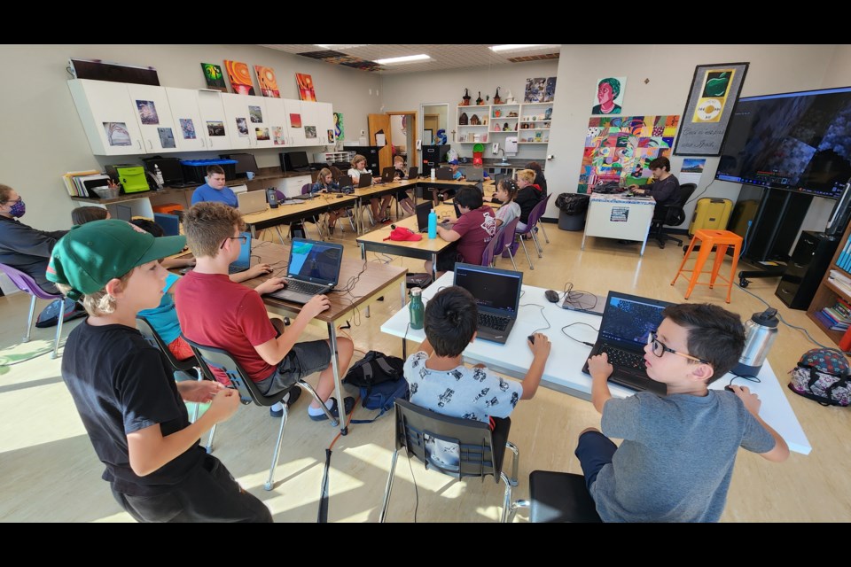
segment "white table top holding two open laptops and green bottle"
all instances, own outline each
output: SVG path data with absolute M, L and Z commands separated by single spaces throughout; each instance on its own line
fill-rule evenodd
M 453 273 L 447 272 L 435 283 L 423 291 L 423 299 L 426 301 L 437 293 L 442 287 L 452 285 Z M 483 363 L 489 369 L 504 373 L 507 376 L 522 378 L 526 376 L 529 366 L 532 364 L 532 352 L 526 341 L 533 332 L 543 332 L 552 342 L 550 358 L 543 370 L 541 384 L 558 392 L 569 393 L 582 400 L 590 400 L 591 377 L 582 373 L 582 366 L 588 358 L 590 347 L 567 338 L 561 328 L 574 322 L 585 322 L 593 326 L 574 325 L 566 329 L 566 332 L 578 340 L 594 343 L 597 341 L 597 330 L 600 327 L 601 318 L 597 315 L 577 313 L 558 307 L 558 303 L 550 303 L 543 297 L 543 288 L 523 286 L 523 295 L 520 297 L 520 309 L 518 320 L 511 330 L 511 336 L 505 345 L 497 345 L 487 340 L 475 340 L 464 351 L 465 361 L 471 364 Z M 543 306 L 543 313 L 541 307 Z M 544 321 L 544 316 L 549 321 L 549 329 Z M 405 337 L 408 328 L 408 309 L 402 309 L 381 325 L 381 331 L 395 337 Z M 419 344 L 426 338 L 424 330 L 407 330 L 407 338 Z M 713 384 L 710 388 L 721 390 L 730 383 L 733 376 L 728 374 Z M 798 418 L 789 405 L 789 400 L 777 382 L 777 376 L 771 366 L 766 362 L 760 371 L 759 384 L 737 379 L 734 384 L 747 386 L 752 392 L 760 396 L 762 406 L 760 416 L 766 423 L 773 427 L 785 439 L 792 451 L 800 454 L 809 454 L 812 447 L 809 445 L 807 435 L 800 427 Z M 616 398 L 626 398 L 635 392 L 617 384 L 609 384 L 612 395 Z

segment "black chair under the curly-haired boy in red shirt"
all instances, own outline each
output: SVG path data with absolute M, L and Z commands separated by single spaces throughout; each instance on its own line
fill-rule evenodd
M 210 375 L 213 374 L 212 369 L 219 369 L 223 371 L 228 379 L 230 380 L 230 384 L 236 388 L 239 392 L 239 398 L 243 404 L 250 404 L 254 402 L 258 406 L 262 406 L 268 408 L 269 406 L 274 406 L 278 401 L 282 400 L 284 396 L 289 393 L 295 386 L 301 387 L 302 390 L 307 390 L 313 395 L 314 400 L 318 402 L 319 407 L 322 408 L 325 412 L 325 415 L 328 416 L 328 420 L 331 422 L 333 427 L 337 426 L 337 420 L 331 415 L 331 412 L 328 408 L 325 407 L 325 404 L 322 400 L 319 400 L 319 396 L 316 395 L 316 391 L 313 387 L 305 382 L 304 380 L 299 380 L 297 383 L 293 384 L 286 390 L 282 390 L 281 392 L 277 392 L 272 394 L 271 396 L 264 395 L 257 389 L 257 385 L 254 384 L 254 380 L 252 380 L 246 374 L 245 369 L 243 369 L 237 361 L 233 360 L 233 357 L 230 356 L 230 353 L 221 349 L 215 348 L 213 346 L 204 346 L 199 345 L 198 343 L 192 342 L 188 338 L 183 337 L 189 346 L 192 347 L 192 351 L 195 353 L 195 356 L 198 357 L 198 360 L 201 361 L 201 364 L 206 368 L 207 372 Z M 281 416 L 281 427 L 277 431 L 277 441 L 275 442 L 275 451 L 272 454 L 272 464 L 269 466 L 269 478 L 266 480 L 266 484 L 263 485 L 263 488 L 266 490 L 271 490 L 272 485 L 274 483 L 275 476 L 275 468 L 277 467 L 277 457 L 281 452 L 281 440 L 284 439 L 284 427 L 286 425 L 286 404 L 282 404 L 284 406 L 284 415 Z

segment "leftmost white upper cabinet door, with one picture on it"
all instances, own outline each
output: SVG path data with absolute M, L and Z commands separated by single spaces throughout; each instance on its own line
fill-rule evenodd
M 145 153 L 138 111 L 123 82 L 68 81 L 91 151 L 98 156 Z

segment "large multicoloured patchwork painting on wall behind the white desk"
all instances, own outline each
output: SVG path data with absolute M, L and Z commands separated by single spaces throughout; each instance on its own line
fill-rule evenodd
M 624 183 L 627 177 L 649 179 L 650 162 L 670 156 L 679 125 L 675 115 L 592 117 L 577 192 L 589 193 L 603 183 Z

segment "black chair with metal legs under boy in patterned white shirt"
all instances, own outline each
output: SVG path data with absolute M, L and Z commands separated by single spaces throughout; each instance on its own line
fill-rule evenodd
M 402 448 L 407 449 L 409 458 L 410 454 L 414 454 L 426 465 L 426 469 L 439 470 L 450 477 L 479 477 L 484 479 L 488 475 L 493 475 L 496 483 L 502 478 L 505 483 L 505 493 L 500 521 L 507 521 L 509 509 L 511 509 L 511 489 L 517 485 L 519 463 L 517 447 L 509 441 L 506 441 L 503 447 L 494 447 L 487 423 L 441 416 L 441 414 L 434 413 L 431 410 L 419 408 L 410 401 L 395 400 L 395 422 L 396 449 L 393 452 L 390 474 L 387 477 L 380 522 L 384 522 L 387 514 L 390 491 L 393 489 L 396 458 Z M 432 449 L 434 446 L 433 443 L 426 446 L 428 440 L 426 436 L 429 439 L 439 439 L 456 444 L 459 447 L 458 464 L 449 464 L 433 458 Z M 514 453 L 511 478 L 503 472 L 506 447 Z

